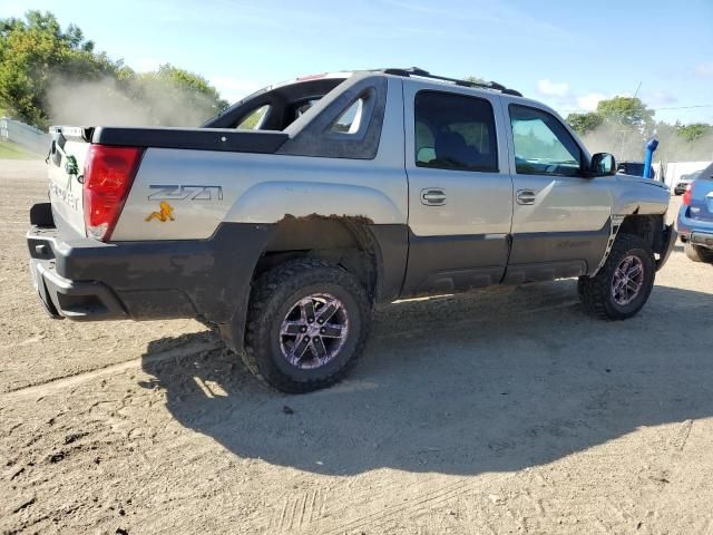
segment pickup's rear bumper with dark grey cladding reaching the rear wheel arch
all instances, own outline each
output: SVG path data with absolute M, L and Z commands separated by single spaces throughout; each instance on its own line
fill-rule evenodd
M 197 318 L 238 349 L 253 271 L 272 232 L 233 223 L 208 240 L 102 243 L 33 226 L 27 243 L 37 294 L 52 318 Z

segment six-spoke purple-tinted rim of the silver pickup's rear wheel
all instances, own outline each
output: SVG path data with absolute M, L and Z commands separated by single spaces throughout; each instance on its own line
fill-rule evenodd
M 302 298 L 280 327 L 280 349 L 287 362 L 301 369 L 320 368 L 332 361 L 349 335 L 349 313 L 329 293 Z

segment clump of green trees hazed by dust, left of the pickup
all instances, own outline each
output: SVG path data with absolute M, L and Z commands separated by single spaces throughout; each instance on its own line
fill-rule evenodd
M 46 128 L 57 115 L 77 121 L 82 107 L 99 106 L 107 111 L 130 108 L 130 116 L 144 124 L 188 126 L 227 103 L 205 78 L 168 64 L 155 72 L 135 72 L 95 51 L 78 27 L 62 30 L 52 13 L 0 19 L 0 107 Z

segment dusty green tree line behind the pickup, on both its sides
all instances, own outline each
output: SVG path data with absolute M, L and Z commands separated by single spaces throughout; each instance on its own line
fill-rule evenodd
M 39 128 L 52 121 L 195 126 L 227 105 L 202 76 L 169 64 L 137 72 L 97 51 L 77 26 L 62 29 L 51 12 L 0 19 L 0 107 Z M 713 158 L 712 125 L 656 121 L 635 97 L 602 100 L 566 120 L 590 149 L 621 159 L 638 159 L 653 136 L 664 159 Z

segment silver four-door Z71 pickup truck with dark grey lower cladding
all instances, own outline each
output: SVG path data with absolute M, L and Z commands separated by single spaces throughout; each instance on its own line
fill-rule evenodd
M 195 129 L 50 133 L 27 236 L 50 315 L 197 318 L 289 392 L 348 373 L 374 303 L 576 276 L 629 318 L 675 242 L 668 191 L 555 111 L 417 68 L 300 78 Z

